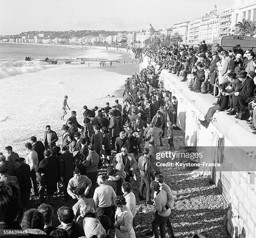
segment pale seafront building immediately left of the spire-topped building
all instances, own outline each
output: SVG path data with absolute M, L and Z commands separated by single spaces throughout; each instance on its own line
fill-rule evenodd
M 202 18 L 196 18 L 187 25 L 187 44 L 189 46 L 195 46 L 199 43 L 201 21 Z

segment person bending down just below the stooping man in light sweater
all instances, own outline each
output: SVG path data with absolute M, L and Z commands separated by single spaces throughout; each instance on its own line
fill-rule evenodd
M 97 178 L 96 178 L 96 181 L 97 181 Z M 74 195 L 76 195 L 76 197 L 77 197 L 77 203 L 74 204 L 74 206 L 72 207 L 72 209 L 74 211 L 74 215 L 75 215 L 74 220 L 76 220 L 78 218 L 78 216 L 80 215 L 79 205 L 82 203 L 89 203 L 91 205 L 91 207 L 94 208 L 95 211 L 97 209 L 93 198 L 84 198 L 84 192 L 85 192 L 84 187 L 78 187 L 74 190 Z M 95 215 L 97 215 L 97 213 Z

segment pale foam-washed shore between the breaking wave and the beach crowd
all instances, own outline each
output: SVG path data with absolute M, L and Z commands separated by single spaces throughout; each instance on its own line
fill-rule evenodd
M 112 53 L 112 50 L 109 51 Z M 98 65 L 90 68 L 87 66 L 81 67 L 80 65 L 60 65 L 58 69 L 50 68 L 36 73 L 15 75 L 17 85 L 11 89 L 8 87 L 8 84 L 11 84 L 13 80 L 4 78 L 2 82 L 3 84 L 7 83 L 7 85 L 1 89 L 3 93 L 0 95 L 0 99 L 3 101 L 2 113 L 4 115 L 3 120 L 0 121 L 0 133 L 3 133 L 3 137 L 0 139 L 0 144 L 2 145 L 0 152 L 4 153 L 4 147 L 11 145 L 13 151 L 17 152 L 21 157 L 26 156 L 24 144 L 29 141 L 31 136 L 36 136 L 38 140 L 43 141 L 45 125 L 47 124 L 50 124 L 52 130 L 58 134 L 59 140 L 57 145 L 59 145 L 61 143 L 61 126 L 71 116 L 71 111 L 67 111 L 68 114 L 65 116 L 65 120 L 59 120 L 61 108 L 56 106 L 56 102 L 57 105 L 61 105 L 63 95 L 69 96 L 69 107 L 71 110 L 77 111 L 77 120 L 81 125 L 83 125 L 83 105 L 87 105 L 88 108 L 93 108 L 97 105 L 100 109 L 105 106 L 106 102 L 114 105 L 116 99 L 121 101 L 125 79 L 138 72 L 139 65 L 131 65 L 131 55 L 124 52 L 120 53 L 120 51 L 113 52 L 118 54 L 119 61 L 128 60 L 129 64 L 114 63 L 112 67 L 107 64 L 107 67 L 101 68 Z M 77 72 L 77 70 L 81 71 L 81 77 L 74 81 L 74 85 L 69 86 L 69 78 L 73 76 L 72 72 Z M 87 75 L 87 72 L 89 75 Z M 49 81 L 42 82 L 40 75 L 44 75 L 46 78 L 49 75 Z M 63 77 L 58 79 L 58 75 L 63 75 Z M 85 81 L 83 79 L 84 76 Z M 21 78 L 23 82 L 20 82 Z M 98 81 L 96 87 L 95 80 Z M 108 80 L 107 85 L 105 85 L 105 80 Z M 31 82 L 34 84 L 33 87 L 29 86 Z M 50 94 L 44 93 L 45 84 L 49 84 L 50 90 L 52 91 Z M 80 86 L 77 87 L 76 85 Z M 22 92 L 19 92 L 20 90 Z M 33 92 L 33 90 L 36 91 Z M 102 93 L 99 94 L 99 91 Z M 114 94 L 115 97 L 107 98 L 107 94 Z M 99 97 L 95 98 L 93 95 L 99 95 Z M 16 103 L 14 103 L 15 99 L 7 100 L 8 97 L 12 98 L 12 96 L 19 98 L 19 100 Z M 34 102 L 32 102 L 33 100 L 31 101 L 32 98 L 34 98 Z M 95 100 L 92 98 L 95 98 Z M 13 114 L 13 110 L 15 109 L 11 105 L 17 107 L 15 114 Z

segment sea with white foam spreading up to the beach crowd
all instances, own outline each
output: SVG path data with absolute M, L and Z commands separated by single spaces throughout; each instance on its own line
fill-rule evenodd
M 61 135 L 60 120 L 64 95 L 71 110 L 83 125 L 83 106 L 88 108 L 115 104 L 113 95 L 131 75 L 108 72 L 99 62 L 50 65 L 46 62 L 25 61 L 32 58 L 106 58 L 118 60 L 122 53 L 105 49 L 80 49 L 67 46 L 0 44 L 0 152 L 7 145 L 24 151 L 31 136 L 43 139 L 45 125 L 51 125 Z M 121 63 L 113 63 L 115 65 Z M 107 63 L 109 66 L 109 63 Z M 120 66 L 119 66 L 120 67 Z M 125 65 L 123 65 L 125 67 Z M 135 73 L 135 72 L 134 72 Z M 61 140 L 61 138 L 60 138 Z

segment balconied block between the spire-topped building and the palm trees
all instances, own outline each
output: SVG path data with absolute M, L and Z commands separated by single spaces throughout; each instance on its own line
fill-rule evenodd
M 219 36 L 227 36 L 231 34 L 231 16 L 233 11 L 233 7 L 222 11 L 222 14 L 220 15 Z

